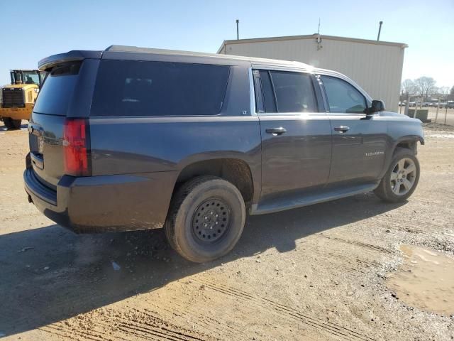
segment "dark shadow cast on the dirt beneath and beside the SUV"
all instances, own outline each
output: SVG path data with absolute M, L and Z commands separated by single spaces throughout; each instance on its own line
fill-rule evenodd
M 161 229 L 76 235 L 51 225 L 4 234 L 0 236 L 0 332 L 13 335 L 55 323 L 272 247 L 290 251 L 298 239 L 310 234 L 397 207 L 365 194 L 250 217 L 233 252 L 209 264 L 182 259 L 168 247 Z

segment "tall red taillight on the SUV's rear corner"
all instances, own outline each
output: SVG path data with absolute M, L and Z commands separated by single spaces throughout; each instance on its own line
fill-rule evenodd
M 65 174 L 90 175 L 89 123 L 87 119 L 65 119 L 63 132 Z

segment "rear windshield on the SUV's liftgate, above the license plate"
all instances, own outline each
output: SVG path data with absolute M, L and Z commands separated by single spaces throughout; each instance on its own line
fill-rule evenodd
M 70 105 L 81 63 L 59 65 L 45 78 L 33 112 L 65 116 Z

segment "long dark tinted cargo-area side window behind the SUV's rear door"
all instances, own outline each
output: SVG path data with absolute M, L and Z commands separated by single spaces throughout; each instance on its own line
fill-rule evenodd
M 91 115 L 216 115 L 229 70 L 223 65 L 103 60 Z

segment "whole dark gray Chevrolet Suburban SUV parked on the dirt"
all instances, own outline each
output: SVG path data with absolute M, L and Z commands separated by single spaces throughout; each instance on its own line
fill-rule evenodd
M 179 254 L 211 261 L 246 212 L 372 190 L 398 202 L 419 180 L 421 121 L 338 72 L 125 46 L 39 67 L 26 192 L 75 232 L 164 227 Z

